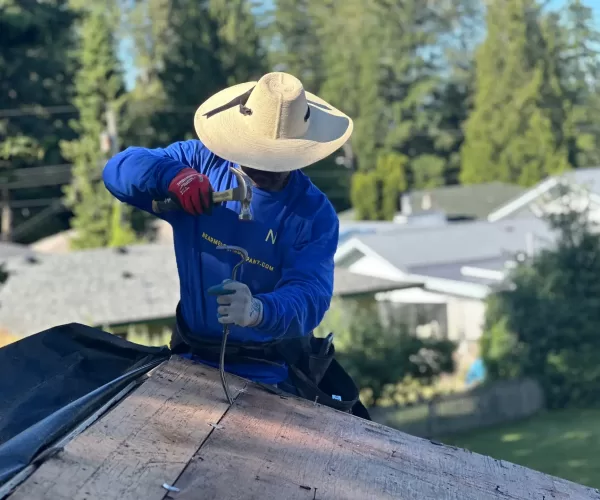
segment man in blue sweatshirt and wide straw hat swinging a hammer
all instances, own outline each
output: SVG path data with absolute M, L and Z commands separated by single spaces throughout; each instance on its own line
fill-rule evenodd
M 199 140 L 164 149 L 130 147 L 103 173 L 107 189 L 123 202 L 152 213 L 152 200 L 171 197 L 182 209 L 159 215 L 173 227 L 178 329 L 212 344 L 224 324 L 231 325 L 230 342 L 241 345 L 309 335 L 330 305 L 339 222 L 301 169 L 338 150 L 352 133 L 352 120 L 295 77 L 269 73 L 210 97 L 194 125 Z M 239 202 L 211 204 L 213 190 L 237 185 L 230 165 L 256 183 L 251 222 L 238 219 Z M 236 282 L 223 282 L 239 256 L 216 250 L 222 244 L 248 251 Z M 207 293 L 220 283 L 218 296 Z M 172 348 L 181 341 L 175 335 Z M 193 353 L 217 366 L 214 356 Z M 234 359 L 226 370 L 289 389 L 282 359 Z

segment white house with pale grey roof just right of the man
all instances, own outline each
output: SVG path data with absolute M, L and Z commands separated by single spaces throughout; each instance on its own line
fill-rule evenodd
M 438 331 L 470 343 L 481 336 L 484 299 L 503 283 L 507 266 L 519 253 L 532 254 L 553 238 L 547 225 L 532 217 L 457 222 L 355 236 L 339 246 L 335 262 L 398 283 L 398 290 L 375 295 L 385 314 L 407 320 L 422 335 Z

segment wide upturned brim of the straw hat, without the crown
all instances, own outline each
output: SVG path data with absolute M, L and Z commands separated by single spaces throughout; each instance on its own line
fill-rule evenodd
M 352 135 L 350 117 L 320 97 L 306 92 L 310 107 L 308 129 L 302 137 L 269 139 L 258 135 L 234 106 L 210 118 L 203 116 L 257 82 L 246 82 L 208 98 L 196 111 L 194 128 L 202 143 L 217 156 L 241 166 L 267 172 L 287 172 L 307 167 L 337 151 Z

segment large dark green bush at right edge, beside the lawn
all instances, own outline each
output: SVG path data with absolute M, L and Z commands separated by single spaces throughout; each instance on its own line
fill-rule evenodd
M 556 247 L 519 265 L 489 299 L 481 343 L 492 379 L 535 377 L 553 408 L 600 403 L 600 233 L 572 193 L 565 199 L 547 216 Z

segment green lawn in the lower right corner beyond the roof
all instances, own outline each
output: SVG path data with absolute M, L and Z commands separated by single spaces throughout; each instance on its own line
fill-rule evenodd
M 600 488 L 600 410 L 548 412 L 442 441 Z

